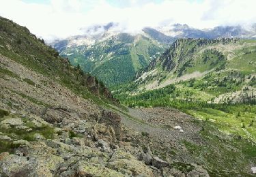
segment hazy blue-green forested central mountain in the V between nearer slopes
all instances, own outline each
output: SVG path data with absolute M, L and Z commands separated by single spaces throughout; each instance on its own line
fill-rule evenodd
M 68 57 L 72 65 L 81 65 L 84 71 L 97 76 L 108 86 L 129 82 L 164 49 L 164 45 L 145 35 L 128 33 L 102 37 L 91 44 L 79 43 L 79 40 L 83 41 L 85 37 L 76 38 L 76 42 L 74 39 L 68 43 L 59 42 L 55 48 L 61 56 Z M 65 49 L 62 44 L 67 45 Z

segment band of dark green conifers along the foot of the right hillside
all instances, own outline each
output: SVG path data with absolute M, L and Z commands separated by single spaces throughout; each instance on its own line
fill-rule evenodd
M 184 98 L 177 97 L 179 94 L 182 94 Z M 139 93 L 138 95 L 128 95 L 127 93 L 115 95 L 117 99 L 130 108 L 171 107 L 184 112 L 186 110 L 212 108 L 224 112 L 250 111 L 256 113 L 255 99 L 246 103 L 208 103 L 198 99 L 191 99 L 190 96 L 181 93 L 178 88 L 175 88 L 174 84 L 170 84 L 165 88 Z

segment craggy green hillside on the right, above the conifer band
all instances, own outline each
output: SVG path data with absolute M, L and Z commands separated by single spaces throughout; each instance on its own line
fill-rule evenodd
M 182 88 L 191 84 L 207 95 L 193 100 L 254 101 L 255 47 L 254 40 L 177 39 L 137 77 L 134 93 L 184 82 Z

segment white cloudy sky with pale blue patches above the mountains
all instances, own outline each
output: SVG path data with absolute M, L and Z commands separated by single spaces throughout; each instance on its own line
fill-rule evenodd
M 49 40 L 119 22 L 124 31 L 182 23 L 204 29 L 256 22 L 256 0 L 0 0 L 0 16 Z

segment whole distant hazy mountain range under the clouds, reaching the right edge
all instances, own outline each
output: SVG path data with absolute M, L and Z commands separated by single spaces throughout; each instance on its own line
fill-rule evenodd
M 220 37 L 255 39 L 254 26 L 195 29 L 174 24 L 165 27 L 145 27 L 141 32 L 124 33 L 118 23 L 95 25 L 83 29 L 85 35 L 76 35 L 55 41 L 51 45 L 72 65 L 97 76 L 108 86 L 130 82 L 141 69 L 180 38 L 216 39 Z

